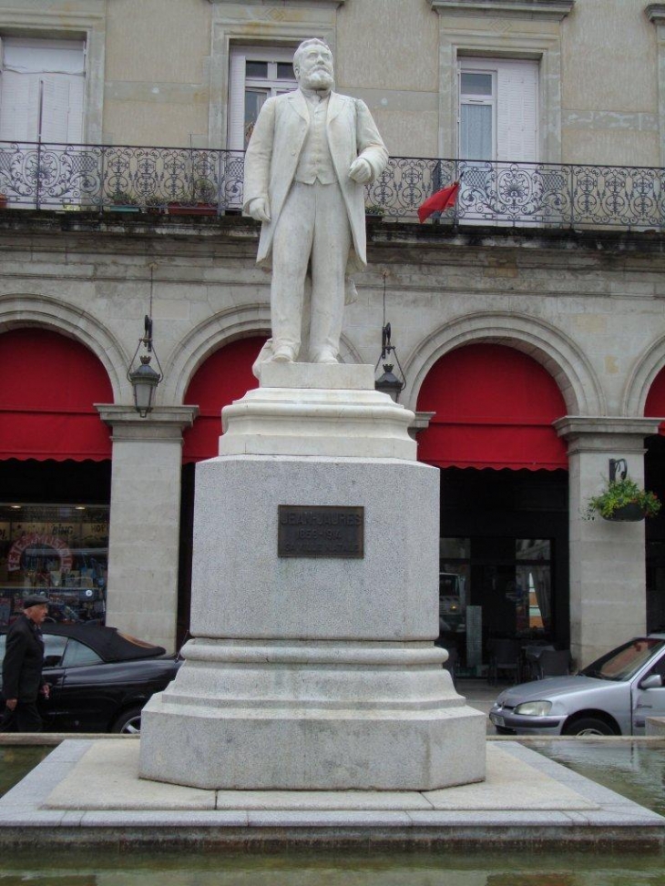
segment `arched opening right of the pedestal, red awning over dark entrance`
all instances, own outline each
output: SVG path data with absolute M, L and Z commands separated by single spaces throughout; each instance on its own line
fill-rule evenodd
M 493 644 L 568 645 L 568 458 L 557 382 L 527 354 L 478 343 L 435 363 L 418 457 L 441 469 L 440 642 L 466 676 Z M 522 650 L 520 652 L 520 649 Z M 520 674 L 520 676 L 523 676 Z

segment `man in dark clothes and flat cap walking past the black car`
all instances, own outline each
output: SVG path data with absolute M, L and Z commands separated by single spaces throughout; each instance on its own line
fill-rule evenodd
M 48 684 L 42 680 L 44 640 L 39 626 L 48 613 L 45 596 L 27 596 L 23 613 L 10 627 L 3 660 L 5 715 L 2 732 L 40 732 L 42 718 L 37 711 L 39 692 L 48 698 Z

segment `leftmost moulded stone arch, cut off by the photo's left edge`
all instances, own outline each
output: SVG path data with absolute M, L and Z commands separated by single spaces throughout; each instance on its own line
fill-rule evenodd
M 0 300 L 0 333 L 30 326 L 59 332 L 85 345 L 107 371 L 114 402 L 132 401 L 126 375 L 129 355 L 92 314 L 41 295 L 9 295 Z

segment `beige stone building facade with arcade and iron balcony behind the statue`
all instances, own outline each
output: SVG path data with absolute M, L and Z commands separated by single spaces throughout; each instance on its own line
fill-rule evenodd
M 0 619 L 42 587 L 184 636 L 195 464 L 269 334 L 243 151 L 308 36 L 392 158 L 342 359 L 380 374 L 390 321 L 440 469 L 442 641 L 480 675 L 494 637 L 582 665 L 665 624 L 665 518 L 584 513 L 610 460 L 665 493 L 665 4 L 643 0 L 0 0 Z

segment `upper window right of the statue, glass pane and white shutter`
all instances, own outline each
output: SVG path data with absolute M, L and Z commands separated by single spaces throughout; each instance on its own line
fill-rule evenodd
M 461 59 L 459 158 L 537 160 L 537 98 L 537 61 Z

